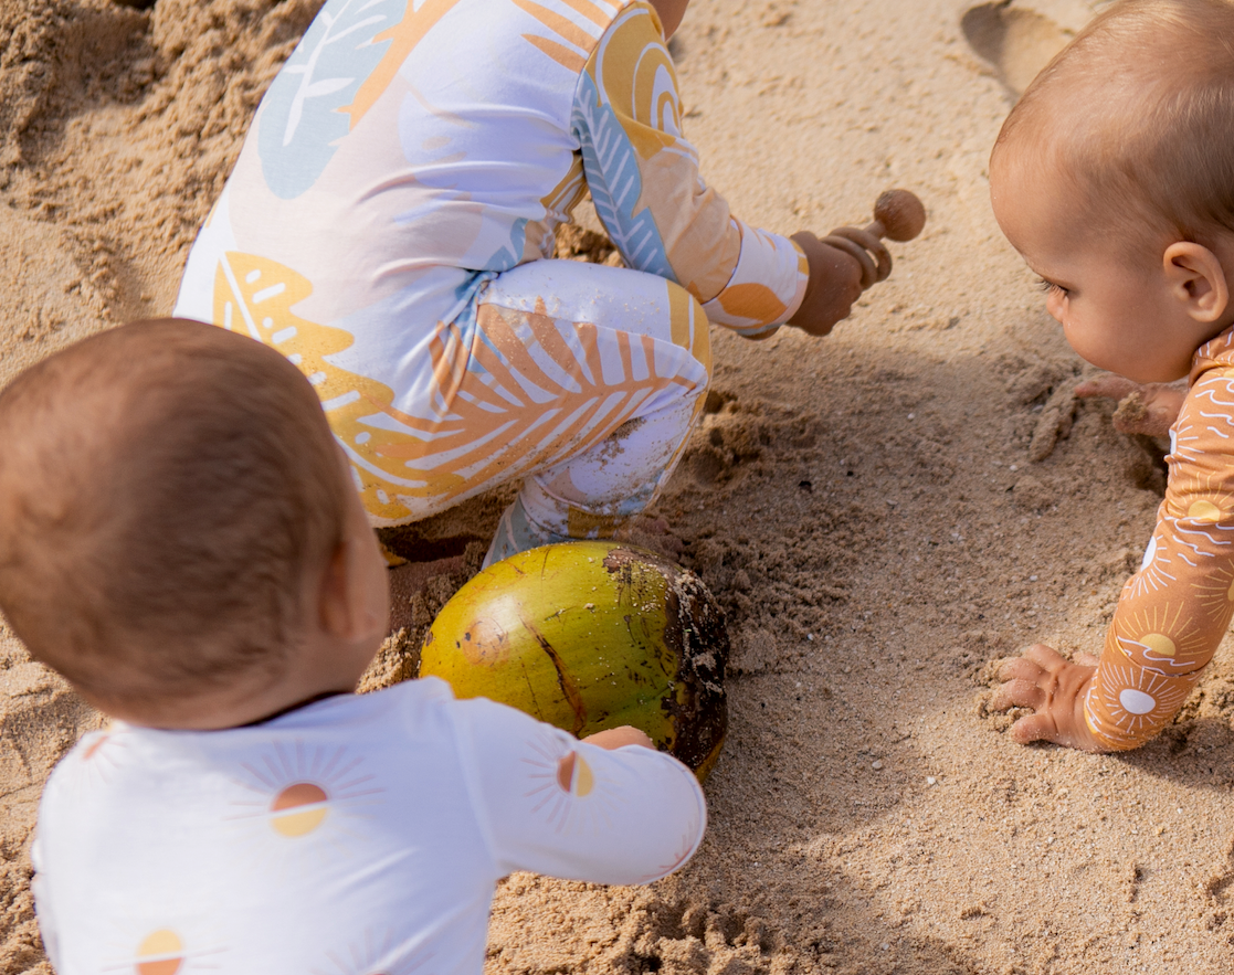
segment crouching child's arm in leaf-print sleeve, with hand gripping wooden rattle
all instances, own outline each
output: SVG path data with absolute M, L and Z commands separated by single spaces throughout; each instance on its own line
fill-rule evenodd
M 861 292 L 856 260 L 810 233 L 749 227 L 703 184 L 649 6 L 626 7 L 601 39 L 573 127 L 596 212 L 631 267 L 676 281 L 708 320 L 748 338 L 785 322 L 824 335 L 848 316 Z

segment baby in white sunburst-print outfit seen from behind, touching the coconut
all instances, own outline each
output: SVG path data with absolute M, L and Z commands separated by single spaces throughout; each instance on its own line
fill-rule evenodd
M 114 721 L 43 793 L 59 975 L 480 975 L 499 878 L 638 884 L 694 853 L 691 772 L 427 678 L 355 695 L 385 562 L 312 388 L 194 322 L 0 392 L 0 610 Z

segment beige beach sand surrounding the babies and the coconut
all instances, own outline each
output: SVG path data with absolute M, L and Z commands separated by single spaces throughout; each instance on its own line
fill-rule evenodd
M 170 309 L 316 7 L 0 0 L 0 381 Z M 1229 647 L 1132 754 L 1021 747 L 985 706 L 1018 647 L 1099 647 L 1164 486 L 1157 445 L 1071 396 L 1082 364 L 987 198 L 1013 89 L 1091 14 L 695 0 L 674 42 L 687 134 L 738 213 L 826 232 L 905 185 L 930 222 L 832 337 L 716 332 L 708 412 L 656 507 L 735 647 L 707 839 L 648 889 L 511 878 L 490 975 L 1234 966 Z M 501 503 L 395 540 L 454 561 L 405 587 L 370 684 L 407 675 Z M 4 631 L 0 668 L 0 969 L 47 971 L 36 802 L 99 719 Z

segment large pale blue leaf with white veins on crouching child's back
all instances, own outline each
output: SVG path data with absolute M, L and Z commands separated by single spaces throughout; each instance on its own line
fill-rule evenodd
M 326 169 L 347 134 L 357 89 L 381 62 L 407 0 L 329 0 L 262 102 L 258 155 L 270 191 L 294 200 Z

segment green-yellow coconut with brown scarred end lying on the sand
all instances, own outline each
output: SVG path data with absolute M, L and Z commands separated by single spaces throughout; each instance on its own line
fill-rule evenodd
M 698 778 L 728 728 L 724 615 L 702 581 L 655 552 L 547 545 L 480 572 L 424 637 L 420 675 L 579 737 L 632 725 Z

